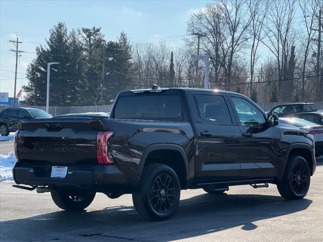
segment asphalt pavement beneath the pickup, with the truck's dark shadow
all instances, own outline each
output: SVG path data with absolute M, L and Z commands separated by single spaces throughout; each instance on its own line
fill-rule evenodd
M 182 191 L 174 216 L 143 220 L 131 195 L 97 194 L 81 213 L 62 211 L 50 195 L 0 184 L 1 241 L 323 241 L 323 160 L 305 199 L 285 201 L 275 185 L 231 187 L 227 194 Z

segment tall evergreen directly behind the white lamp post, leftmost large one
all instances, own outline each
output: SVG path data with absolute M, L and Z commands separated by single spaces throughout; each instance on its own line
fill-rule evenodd
M 75 105 L 75 57 L 69 46 L 70 36 L 64 23 L 59 22 L 49 31 L 46 40 L 47 46 L 36 47 L 37 57 L 27 69 L 28 85 L 23 89 L 26 95 L 26 104 L 34 104 L 34 88 L 36 86 L 36 104 L 45 105 L 47 85 L 47 63 L 59 62 L 50 70 L 50 105 Z M 80 54 L 80 53 L 78 53 Z M 35 74 L 36 85 L 35 85 Z

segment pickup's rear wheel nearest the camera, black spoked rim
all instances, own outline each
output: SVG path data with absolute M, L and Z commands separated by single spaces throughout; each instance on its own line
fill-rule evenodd
M 176 211 L 181 196 L 180 181 L 168 165 L 149 164 L 140 180 L 139 191 L 132 194 L 136 211 L 150 220 L 166 220 Z

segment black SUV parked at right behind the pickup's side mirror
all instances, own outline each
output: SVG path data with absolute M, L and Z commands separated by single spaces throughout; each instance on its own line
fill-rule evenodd
M 298 112 L 315 112 L 316 107 L 314 103 L 289 103 L 278 105 L 268 113 L 277 114 L 280 117 L 284 117 Z

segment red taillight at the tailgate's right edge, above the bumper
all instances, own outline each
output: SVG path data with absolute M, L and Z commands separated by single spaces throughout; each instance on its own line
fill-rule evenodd
M 99 164 L 111 165 L 114 163 L 110 144 L 110 138 L 113 135 L 112 131 L 102 131 L 96 135 L 96 157 Z

